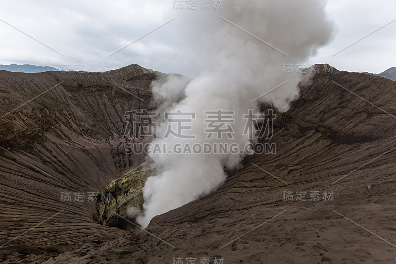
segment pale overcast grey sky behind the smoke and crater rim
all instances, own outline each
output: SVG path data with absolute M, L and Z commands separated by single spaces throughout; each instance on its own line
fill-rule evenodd
M 198 10 L 174 10 L 173 0 L 1 0 L 0 64 L 82 67 L 92 71 L 139 64 L 189 76 L 190 54 L 182 49 L 181 36 L 191 32 L 188 28 L 181 32 L 183 27 L 178 21 L 182 20 L 178 17 L 202 15 L 199 0 L 197 5 Z M 227 0 L 223 8 L 227 8 Z M 396 21 L 383 27 L 396 19 L 395 0 L 329 0 L 327 10 L 336 24 L 335 37 L 305 62 L 307 66 L 329 63 L 340 70 L 373 73 L 396 66 Z M 257 32 L 252 34 L 259 36 Z M 190 52 L 194 53 L 194 49 Z

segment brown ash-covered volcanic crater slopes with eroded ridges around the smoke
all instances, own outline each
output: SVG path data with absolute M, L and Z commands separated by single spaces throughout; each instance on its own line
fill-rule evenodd
M 0 119 L 0 262 L 395 263 L 396 82 L 363 73 L 317 73 L 276 113 L 276 154 L 245 158 L 217 191 L 146 231 L 100 225 L 93 202 L 61 202 L 144 162 L 123 153 L 124 112 L 156 106 L 155 78 L 138 65 L 0 71 L 1 115 L 20 106 Z

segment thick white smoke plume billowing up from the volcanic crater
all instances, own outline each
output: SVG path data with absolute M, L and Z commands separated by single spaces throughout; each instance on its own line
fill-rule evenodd
M 222 11 L 205 12 L 198 7 L 180 13 L 175 23 L 179 22 L 178 32 L 187 39 L 181 52 L 196 54 L 188 57 L 194 59 L 190 63 L 195 67 L 195 77 L 187 85 L 177 78 L 154 83 L 153 92 L 164 102 L 161 110 L 196 112 L 192 129 L 185 131 L 196 139 L 169 136 L 153 142 L 167 146 L 236 143 L 244 149 L 249 139 L 243 135 L 243 115 L 248 109 L 257 112 L 258 102 L 288 110 L 289 103 L 298 97 L 300 77 L 284 74 L 283 63 L 304 63 L 330 41 L 333 31 L 325 2 L 317 0 L 225 0 Z M 260 97 L 285 81 L 285 85 Z M 217 109 L 235 111 L 233 139 L 206 139 L 204 111 Z M 166 128 L 167 123 L 162 123 L 158 134 Z M 137 217 L 138 223 L 146 227 L 155 215 L 213 192 L 226 179 L 224 168 L 237 166 L 245 155 L 151 154 L 158 174 L 146 182 L 144 213 Z

